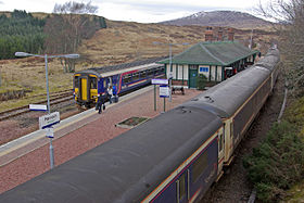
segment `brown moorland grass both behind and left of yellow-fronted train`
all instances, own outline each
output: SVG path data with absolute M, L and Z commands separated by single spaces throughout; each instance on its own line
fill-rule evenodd
M 113 21 L 106 21 L 106 29 L 100 29 L 91 39 L 83 41 L 81 47 L 78 49 L 81 58 L 77 60 L 76 71 L 168 55 L 168 46 L 155 46 L 153 41 L 190 43 L 189 46 L 174 46 L 174 54 L 199 41 L 204 41 L 205 27 L 203 26 L 180 27 Z M 236 39 L 246 45 L 250 35 L 251 30 L 236 30 Z M 271 33 L 254 31 L 256 49 L 265 52 L 270 40 L 275 37 Z M 51 92 L 73 87 L 73 73 L 64 73 L 59 60 L 49 60 L 48 65 Z M 39 58 L 0 61 L 0 94 L 12 94 L 13 91 L 18 90 L 26 92 L 25 97 L 0 101 L 0 112 L 41 100 L 39 98 L 34 99 L 33 96 L 46 93 L 45 69 L 45 61 Z

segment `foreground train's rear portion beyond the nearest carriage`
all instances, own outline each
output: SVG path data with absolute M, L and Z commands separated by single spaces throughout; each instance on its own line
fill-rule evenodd
M 198 96 L 183 106 L 197 106 L 221 117 L 224 122 L 225 160 L 229 165 L 232 154 L 245 131 L 273 90 L 277 75 L 279 52 L 273 51 L 264 63 L 249 67 Z M 268 59 L 268 58 L 271 59 Z M 273 67 L 270 66 L 273 64 Z

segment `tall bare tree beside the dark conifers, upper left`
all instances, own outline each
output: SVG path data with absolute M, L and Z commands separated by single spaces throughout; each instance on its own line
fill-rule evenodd
M 45 31 L 47 51 L 50 53 L 74 53 L 77 51 L 81 39 L 91 37 L 100 26 L 99 22 L 86 14 L 93 14 L 98 7 L 74 1 L 55 4 L 54 15 L 47 20 Z M 97 24 L 98 23 L 98 24 Z M 65 72 L 75 71 L 75 61 L 62 59 Z

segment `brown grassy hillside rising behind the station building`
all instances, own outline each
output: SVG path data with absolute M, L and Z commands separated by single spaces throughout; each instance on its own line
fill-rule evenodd
M 182 43 L 190 46 L 205 40 L 206 26 L 175 26 L 164 24 L 140 24 L 134 22 L 106 21 L 107 28 L 100 29 L 93 38 L 84 41 L 79 53 L 87 66 L 101 66 L 130 62 L 152 56 L 168 55 L 168 46 L 155 46 L 153 41 L 163 43 Z M 218 27 L 214 27 L 217 35 Z M 223 27 L 224 36 L 228 27 Z M 235 29 L 235 39 L 248 46 L 251 29 Z M 227 36 L 226 36 L 227 37 Z M 256 49 L 265 52 L 270 41 L 276 38 L 274 33 L 254 30 L 253 39 Z M 178 53 L 189 46 L 173 46 L 173 52 Z

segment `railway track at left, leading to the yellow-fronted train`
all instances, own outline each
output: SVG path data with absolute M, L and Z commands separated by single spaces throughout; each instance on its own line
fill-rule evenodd
M 35 97 L 41 97 L 41 96 L 46 96 L 46 94 L 38 94 Z M 72 99 L 74 99 L 72 90 L 55 92 L 55 93 L 50 94 L 50 105 L 65 102 L 65 101 L 72 100 Z M 35 102 L 35 104 L 47 104 L 47 102 L 48 102 L 47 100 L 42 100 L 39 102 Z M 11 109 L 11 110 L 4 111 L 4 112 L 0 112 L 0 122 L 4 120 L 4 119 L 9 119 L 14 116 L 26 114 L 28 112 L 30 112 L 28 105 L 24 105 L 24 106 Z

